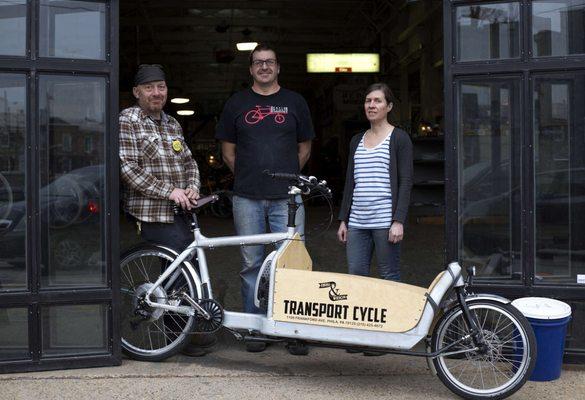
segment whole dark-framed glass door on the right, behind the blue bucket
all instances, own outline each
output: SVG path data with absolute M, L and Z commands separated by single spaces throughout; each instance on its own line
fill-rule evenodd
M 447 258 L 573 309 L 585 361 L 585 0 L 445 0 Z

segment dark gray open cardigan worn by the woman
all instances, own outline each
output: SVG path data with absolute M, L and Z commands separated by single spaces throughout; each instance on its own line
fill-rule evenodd
M 351 138 L 349 144 L 349 160 L 347 174 L 345 175 L 345 189 L 339 220 L 349 221 L 349 213 L 353 199 L 354 155 L 360 140 L 365 133 L 358 133 Z M 392 221 L 405 223 L 410 203 L 410 190 L 412 188 L 412 141 L 408 133 L 400 128 L 394 128 L 390 138 L 390 190 L 392 191 Z

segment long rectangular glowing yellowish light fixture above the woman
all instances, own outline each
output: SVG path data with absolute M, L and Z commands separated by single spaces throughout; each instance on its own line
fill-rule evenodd
M 309 53 L 307 72 L 380 72 L 378 53 Z

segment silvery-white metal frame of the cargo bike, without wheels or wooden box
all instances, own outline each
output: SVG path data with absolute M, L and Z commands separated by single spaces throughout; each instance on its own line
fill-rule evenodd
M 291 192 L 298 194 L 300 190 L 296 187 L 291 187 Z M 153 302 L 151 295 L 157 287 L 162 285 L 167 278 L 172 274 L 178 276 L 180 274 L 179 266 L 188 261 L 193 254 L 197 253 L 197 260 L 199 263 L 200 277 L 196 271 L 188 267 L 195 285 L 197 286 L 198 294 L 201 296 L 202 288 L 207 288 L 206 297 L 213 298 L 211 290 L 211 282 L 207 268 L 207 259 L 205 257 L 205 249 L 213 249 L 224 246 L 245 246 L 245 245 L 260 245 L 260 244 L 277 244 L 286 240 L 292 240 L 295 234 L 295 228 L 289 227 L 286 232 L 282 233 L 266 233 L 258 235 L 246 236 L 224 236 L 217 238 L 208 238 L 204 236 L 199 227 L 194 229 L 195 240 L 171 263 L 171 265 L 162 273 L 156 282 L 150 287 L 145 296 L 146 303 L 152 308 L 161 308 L 173 311 L 179 314 L 193 316 L 197 311 L 191 306 L 174 306 L 171 304 L 161 304 Z M 268 255 L 267 260 L 270 262 L 270 283 L 269 283 L 269 298 L 266 315 L 264 314 L 250 314 L 243 312 L 224 311 L 223 326 L 229 329 L 245 329 L 248 331 L 259 332 L 268 336 L 285 337 L 299 340 L 312 340 L 323 342 L 335 342 L 339 344 L 348 344 L 355 346 L 376 346 L 380 348 L 391 349 L 411 349 L 419 343 L 424 337 L 429 334 L 430 328 L 435 318 L 435 307 L 441 304 L 443 297 L 452 287 L 464 286 L 465 282 L 461 274 L 461 267 L 458 263 L 453 262 L 447 267 L 447 271 L 437 284 L 433 287 L 428 297 L 421 319 L 419 323 L 407 332 L 379 332 L 364 329 L 348 329 L 320 325 L 308 325 L 293 322 L 281 322 L 272 318 L 272 304 L 274 291 L 274 276 L 276 268 L 276 260 L 284 251 L 285 246 L 280 246 L 276 254 Z M 265 261 L 267 262 L 267 261 Z M 187 263 L 189 264 L 189 263 Z M 172 282 L 174 279 L 171 279 Z M 167 285 L 170 285 L 167 284 Z M 166 289 L 166 288 L 165 288 Z

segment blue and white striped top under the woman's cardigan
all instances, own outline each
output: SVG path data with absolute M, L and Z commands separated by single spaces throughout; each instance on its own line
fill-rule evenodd
M 362 137 L 354 156 L 353 199 L 349 227 L 384 229 L 392 224 L 390 186 L 390 136 L 376 147 L 367 149 Z

